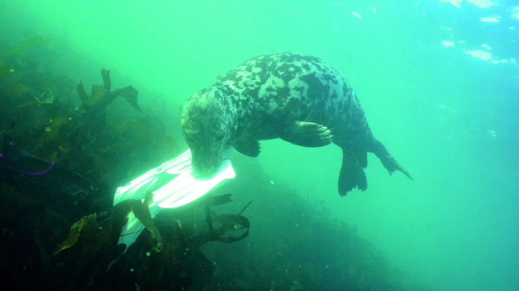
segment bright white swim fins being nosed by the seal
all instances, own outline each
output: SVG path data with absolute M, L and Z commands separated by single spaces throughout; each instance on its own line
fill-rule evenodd
M 147 171 L 123 187 L 117 188 L 114 204 L 130 199 L 144 200 L 146 193 L 153 192 L 153 202 L 149 204 L 152 219 L 161 209 L 175 208 L 192 202 L 226 179 L 236 176 L 229 160 L 225 160 L 215 174 L 204 178 L 193 176 L 191 151 L 188 149 L 179 157 Z M 125 244 L 126 250 L 135 242 L 144 225 L 133 212 L 128 215 L 128 223 L 121 229 L 118 244 Z M 124 252 L 123 252 L 124 253 Z M 111 262 L 110 267 L 117 259 Z

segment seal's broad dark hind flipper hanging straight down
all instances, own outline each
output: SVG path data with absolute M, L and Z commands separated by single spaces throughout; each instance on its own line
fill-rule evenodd
M 359 156 L 359 154 L 361 155 Z M 340 196 L 346 196 L 353 188 L 357 188 L 361 191 L 367 189 L 366 174 L 364 170 L 362 170 L 364 157 L 367 157 L 365 152 L 361 153 L 358 150 L 343 148 L 343 164 L 340 167 L 338 183 Z M 364 164 L 367 165 L 367 158 Z

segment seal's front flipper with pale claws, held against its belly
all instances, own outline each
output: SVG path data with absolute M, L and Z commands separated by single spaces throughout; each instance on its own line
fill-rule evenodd
M 280 136 L 283 141 L 304 147 L 321 147 L 333 142 L 332 132 L 318 123 L 296 121 Z

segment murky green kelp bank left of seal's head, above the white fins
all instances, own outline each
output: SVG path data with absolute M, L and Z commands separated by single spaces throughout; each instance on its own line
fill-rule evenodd
M 29 41 L 13 51 L 34 43 Z M 23 54 L 15 55 L 23 60 Z M 179 147 L 166 135 L 165 126 L 157 117 L 108 116 L 107 106 L 118 97 L 140 113 L 142 108 L 134 87 L 113 89 L 108 70 L 101 70 L 101 78 L 103 84 L 92 85 L 87 93 L 83 82 L 75 85 L 66 76 L 40 70 L 36 63 L 0 74 L 0 95 L 7 96 L 0 100 L 0 113 L 2 118 L 13 120 L 13 138 L 31 153 L 103 184 L 117 184 L 130 177 L 128 167 L 121 164 L 130 159 L 150 167 L 153 162 L 163 162 L 179 153 Z M 80 106 L 76 109 L 74 99 L 78 96 Z M 135 156 L 143 151 L 153 154 Z M 114 168 L 114 164 L 121 167 Z

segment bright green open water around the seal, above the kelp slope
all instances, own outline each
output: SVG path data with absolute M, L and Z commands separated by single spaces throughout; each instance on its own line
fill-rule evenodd
M 348 79 L 374 134 L 415 181 L 391 177 L 370 155 L 367 191 L 339 197 L 338 147 L 268 141 L 258 160 L 272 183 L 319 196 L 431 289 L 519 290 L 517 68 L 442 47 L 451 33 L 441 27 L 461 26 L 465 8 L 435 1 L 4 2 L 4 24 L 52 34 L 85 62 L 95 59 L 160 93 L 140 101 L 166 104 L 172 132 L 187 96 L 245 59 L 283 50 L 324 59 Z

